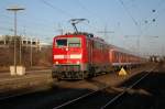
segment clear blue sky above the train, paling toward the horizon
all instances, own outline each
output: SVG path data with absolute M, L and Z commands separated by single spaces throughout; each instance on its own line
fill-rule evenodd
M 1 0 L 0 34 L 13 34 L 11 6 L 18 12 L 18 34 L 52 42 L 55 35 L 73 32 L 70 19 L 87 19 L 79 31 L 107 42 L 147 54 L 165 54 L 165 0 Z M 107 31 L 110 33 L 100 33 Z

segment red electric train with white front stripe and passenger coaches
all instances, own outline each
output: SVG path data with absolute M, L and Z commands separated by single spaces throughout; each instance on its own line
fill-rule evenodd
M 58 35 L 53 41 L 52 74 L 58 79 L 84 79 L 121 66 L 139 65 L 142 61 L 88 33 Z

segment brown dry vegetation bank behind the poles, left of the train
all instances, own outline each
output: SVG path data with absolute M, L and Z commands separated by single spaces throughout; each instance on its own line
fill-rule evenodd
M 19 47 L 16 51 L 16 64 L 20 63 Z M 31 51 L 30 47 L 22 47 L 22 65 L 25 67 L 31 66 Z M 32 65 L 33 66 L 52 66 L 52 48 L 43 47 L 42 50 L 33 48 L 32 51 Z M 0 47 L 0 72 L 9 70 L 9 66 L 13 65 L 13 47 Z

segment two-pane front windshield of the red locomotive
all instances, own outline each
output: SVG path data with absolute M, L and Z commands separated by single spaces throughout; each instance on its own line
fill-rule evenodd
M 80 47 L 81 42 L 80 37 L 67 37 L 67 39 L 58 39 L 56 40 L 56 45 L 58 47 Z

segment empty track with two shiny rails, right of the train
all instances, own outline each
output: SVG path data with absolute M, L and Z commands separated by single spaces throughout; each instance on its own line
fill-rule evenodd
M 98 90 L 85 94 L 78 98 L 64 102 L 57 107 L 54 107 L 53 109 L 107 109 L 111 105 L 116 105 L 119 99 L 124 99 L 125 94 L 130 92 L 130 90 L 133 90 L 133 87 L 145 79 L 145 77 L 147 77 L 155 68 L 143 73 L 144 75 L 142 75 L 138 80 L 128 87 L 116 88 L 106 86 Z M 112 94 L 110 95 L 110 92 Z

